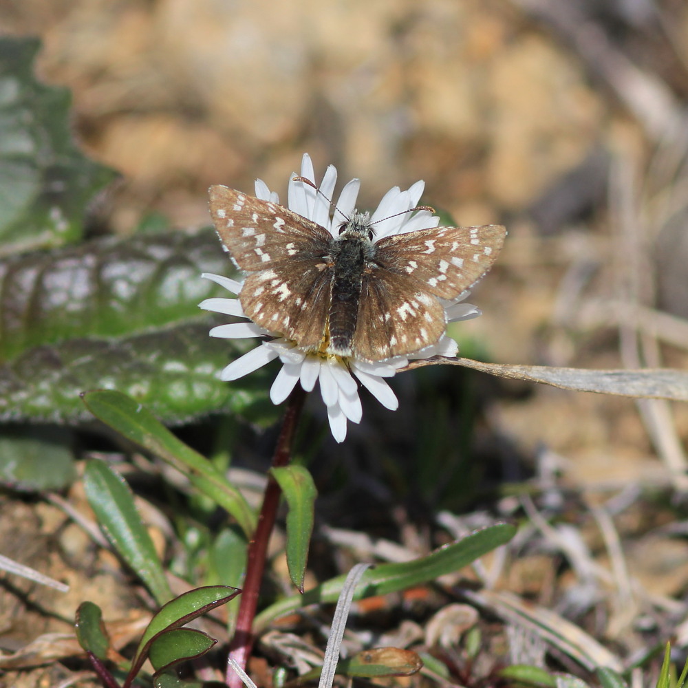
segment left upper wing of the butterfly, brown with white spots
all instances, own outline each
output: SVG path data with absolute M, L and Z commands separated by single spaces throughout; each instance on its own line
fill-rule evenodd
M 217 233 L 241 270 L 257 272 L 274 261 L 327 254 L 330 233 L 284 206 L 226 186 L 211 186 L 210 197 Z

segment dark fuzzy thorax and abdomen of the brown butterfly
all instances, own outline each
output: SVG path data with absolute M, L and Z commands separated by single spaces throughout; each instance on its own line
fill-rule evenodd
M 356 238 L 337 241 L 332 258 L 334 271 L 330 301 L 329 349 L 338 356 L 350 356 L 356 332 L 358 301 L 361 299 L 365 248 L 362 241 Z

